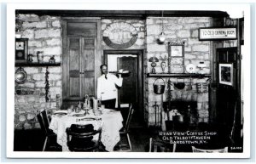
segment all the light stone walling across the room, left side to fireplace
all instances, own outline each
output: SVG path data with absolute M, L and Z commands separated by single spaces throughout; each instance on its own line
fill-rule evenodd
M 20 14 L 20 20 L 23 21 L 21 34 L 23 38 L 28 38 L 29 54 L 33 54 L 33 62 L 37 62 L 37 51 L 44 51 L 44 61 L 48 62 L 52 55 L 55 55 L 56 62 L 61 62 L 61 18 L 41 16 L 35 14 Z M 154 94 L 153 83 L 155 78 L 146 77 L 146 73 L 151 71 L 151 63 L 148 59 L 152 56 L 160 58 L 168 56 L 167 45 L 160 45 L 156 42 L 162 26 L 161 18 L 148 18 L 147 20 L 102 20 L 102 32 L 106 27 L 114 22 L 130 23 L 137 29 L 137 42 L 127 49 L 146 49 L 143 56 L 144 69 L 144 120 L 148 122 L 148 126 L 154 125 L 154 103 L 162 105 L 166 101 L 166 91 L 161 95 Z M 184 65 L 189 62 L 198 65 L 201 60 L 205 61 L 207 68 L 204 70 L 207 74 L 210 72 L 210 42 L 198 41 L 198 28 L 212 26 L 212 18 L 183 18 L 173 17 L 164 18 L 164 31 L 166 34 L 166 42 L 185 42 L 184 44 Z M 102 41 L 102 50 L 109 48 Z M 102 58 L 103 59 L 103 58 Z M 17 69 L 17 68 L 16 68 Z M 44 108 L 54 109 L 56 106 L 56 95 L 61 96 L 61 66 L 49 67 L 49 93 L 50 102 L 45 102 L 45 67 L 24 67 L 27 73 L 27 81 L 24 84 L 16 84 L 16 88 L 31 89 L 34 93 L 26 95 L 15 94 L 15 128 L 29 129 L 38 128 L 36 115 L 39 110 Z M 167 70 L 167 69 L 166 69 Z M 198 71 L 198 70 L 196 70 Z M 156 72 L 160 73 L 160 63 L 156 66 Z M 164 78 L 167 82 L 168 78 Z M 170 78 L 171 82 L 177 82 L 177 78 Z M 186 84 L 190 82 L 189 78 L 178 79 Z M 204 93 L 197 92 L 196 83 L 205 83 L 207 78 L 193 78 L 192 90 L 177 90 L 172 87 L 173 100 L 195 100 L 197 101 L 197 110 L 200 122 L 208 122 L 208 91 Z M 49 110 L 51 112 L 51 110 Z

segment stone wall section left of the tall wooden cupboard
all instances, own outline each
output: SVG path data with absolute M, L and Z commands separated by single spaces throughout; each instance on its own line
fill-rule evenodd
M 28 53 L 33 55 L 33 62 L 38 62 L 38 51 L 44 51 L 44 62 L 49 62 L 53 55 L 56 62 L 61 62 L 61 18 L 20 14 L 20 20 L 23 22 L 21 37 L 28 38 Z M 48 68 L 49 102 L 45 101 L 46 67 L 25 66 L 23 69 L 27 74 L 26 82 L 15 83 L 15 129 L 39 128 L 38 112 L 45 108 L 56 110 L 56 95 L 61 96 L 61 66 Z M 22 93 L 18 92 L 20 90 Z

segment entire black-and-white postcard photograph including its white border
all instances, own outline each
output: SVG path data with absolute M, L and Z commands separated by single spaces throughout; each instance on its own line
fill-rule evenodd
M 250 8 L 188 6 L 9 4 L 7 156 L 248 158 Z

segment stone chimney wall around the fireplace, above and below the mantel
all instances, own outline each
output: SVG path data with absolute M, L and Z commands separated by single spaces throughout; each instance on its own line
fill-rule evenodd
M 166 42 L 184 42 L 184 65 L 188 65 L 191 62 L 194 65 L 198 65 L 201 60 L 205 62 L 207 65 L 204 68 L 206 74 L 210 74 L 210 42 L 204 41 L 201 42 L 198 40 L 198 28 L 200 27 L 209 27 L 212 25 L 212 18 L 208 17 L 170 17 L 164 18 L 164 32 L 166 35 Z M 162 20 L 161 18 L 148 18 L 146 20 L 146 45 L 147 45 L 147 59 L 152 56 L 157 57 L 160 59 L 161 57 L 168 57 L 168 45 L 167 44 L 158 44 L 157 38 L 162 31 Z M 148 62 L 148 69 L 147 71 L 150 72 L 152 67 L 151 63 Z M 160 62 L 157 63 L 155 67 L 156 73 L 160 73 Z M 167 71 L 167 69 L 166 69 Z M 195 70 L 197 72 L 198 69 Z M 183 73 L 186 73 L 185 71 Z M 167 82 L 169 78 L 164 78 L 165 82 Z M 172 84 L 175 82 L 185 82 L 186 85 L 189 84 L 189 78 L 170 78 Z M 154 125 L 154 103 L 156 102 L 157 105 L 160 106 L 162 109 L 162 100 L 167 101 L 166 99 L 166 91 L 162 95 L 158 95 L 154 93 L 153 83 L 155 81 L 154 77 L 149 77 L 148 80 L 145 82 L 148 89 L 146 90 L 145 97 L 147 99 L 145 101 L 145 106 L 148 106 L 145 110 L 145 116 L 148 117 L 148 126 Z M 191 79 L 192 82 L 192 90 L 178 90 L 173 88 L 172 86 L 172 100 L 181 100 L 181 101 L 190 101 L 195 100 L 197 101 L 197 110 L 199 114 L 199 122 L 208 122 L 209 116 L 209 105 L 208 105 L 208 90 L 204 93 L 197 92 L 196 83 L 199 82 L 207 82 L 207 78 L 200 79 L 200 78 L 193 78 Z M 160 113 L 159 113 L 160 115 Z M 147 120 L 146 120 L 147 121 Z

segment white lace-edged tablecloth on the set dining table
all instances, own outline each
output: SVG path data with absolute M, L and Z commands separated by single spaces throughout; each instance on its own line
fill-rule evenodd
M 84 112 L 84 111 L 82 111 Z M 49 129 L 57 134 L 57 143 L 62 146 L 62 151 L 69 151 L 67 147 L 67 127 L 72 124 L 93 124 L 95 129 L 102 127 L 102 144 L 108 151 L 113 151 L 113 147 L 120 140 L 119 130 L 123 127 L 123 117 L 119 111 L 104 109 L 101 116 L 94 116 L 92 111 L 86 116 L 52 116 Z M 95 121 L 79 121 L 86 117 L 102 118 L 101 122 Z

